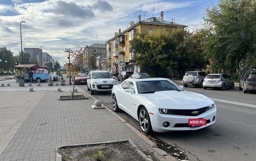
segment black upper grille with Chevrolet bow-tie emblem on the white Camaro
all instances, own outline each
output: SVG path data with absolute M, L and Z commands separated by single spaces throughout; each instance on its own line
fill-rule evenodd
M 198 109 L 168 109 L 166 114 L 175 114 L 182 116 L 198 116 L 206 111 L 208 111 L 209 107 L 203 107 Z

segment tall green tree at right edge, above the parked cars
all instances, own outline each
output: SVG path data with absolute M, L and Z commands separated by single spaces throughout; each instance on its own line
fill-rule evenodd
M 256 2 L 220 0 L 207 9 L 204 52 L 215 70 L 234 73 L 256 67 Z

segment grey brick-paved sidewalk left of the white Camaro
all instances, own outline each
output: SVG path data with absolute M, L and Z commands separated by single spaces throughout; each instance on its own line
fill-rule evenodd
M 129 123 L 108 109 L 92 109 L 94 98 L 76 86 L 83 100 L 58 100 L 70 95 L 72 86 L 20 87 L 16 80 L 2 80 L 0 85 L 0 160 L 56 160 L 60 146 L 132 140 L 153 160 L 176 160 L 163 157 L 163 151 Z M 60 83 L 60 82 L 59 82 Z M 34 92 L 28 92 L 29 88 Z M 56 92 L 61 88 L 63 92 Z

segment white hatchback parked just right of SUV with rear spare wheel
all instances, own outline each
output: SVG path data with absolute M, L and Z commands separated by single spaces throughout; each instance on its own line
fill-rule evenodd
M 225 73 L 209 74 L 204 78 L 203 88 L 218 88 L 225 90 L 226 88 L 234 89 L 234 80 Z

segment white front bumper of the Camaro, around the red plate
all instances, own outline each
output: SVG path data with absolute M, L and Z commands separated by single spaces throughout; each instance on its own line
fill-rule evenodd
M 184 130 L 199 130 L 200 128 L 211 126 L 216 121 L 216 107 L 209 109 L 208 111 L 198 115 L 198 116 L 180 116 L 180 115 L 173 115 L 173 114 L 151 114 L 151 125 L 153 131 L 156 132 L 167 132 L 167 131 L 184 131 Z M 206 125 L 202 126 L 190 126 L 189 119 L 191 118 L 204 118 L 207 120 Z M 170 126 L 164 127 L 163 123 L 168 122 Z

